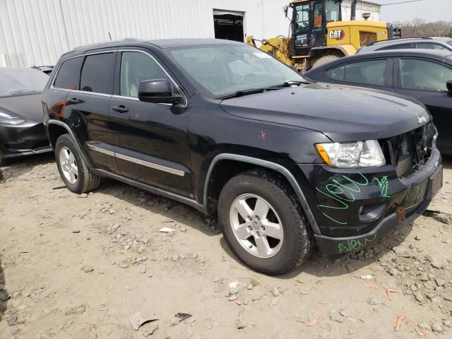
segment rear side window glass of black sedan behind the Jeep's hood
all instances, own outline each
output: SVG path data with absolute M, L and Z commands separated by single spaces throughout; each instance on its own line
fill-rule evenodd
M 338 81 L 384 86 L 386 60 L 362 61 L 339 66 L 328 71 L 328 76 Z

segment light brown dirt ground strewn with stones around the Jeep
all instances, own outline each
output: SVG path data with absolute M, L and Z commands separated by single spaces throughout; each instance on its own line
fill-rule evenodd
M 52 155 L 16 160 L 1 169 L 0 338 L 452 338 L 444 162 L 429 208 L 439 213 L 373 249 L 335 262 L 314 253 L 268 277 L 192 208 L 111 180 L 77 196 Z M 158 320 L 137 331 L 138 312 Z

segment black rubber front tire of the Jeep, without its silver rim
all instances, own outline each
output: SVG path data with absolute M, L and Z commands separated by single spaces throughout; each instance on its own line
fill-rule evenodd
M 230 209 L 242 194 L 265 199 L 280 218 L 283 244 L 277 254 L 259 258 L 239 243 L 232 231 Z M 289 273 L 302 265 L 311 254 L 314 241 L 297 198 L 282 177 L 262 169 L 253 169 L 233 177 L 223 187 L 218 201 L 218 219 L 227 244 L 234 254 L 250 268 L 268 275 Z

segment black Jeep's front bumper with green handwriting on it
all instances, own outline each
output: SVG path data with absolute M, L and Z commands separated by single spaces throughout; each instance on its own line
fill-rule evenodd
M 314 234 L 314 237 L 323 254 L 333 256 L 359 251 L 396 226 L 406 225 L 422 215 L 442 186 L 441 155 L 434 148 L 427 164 L 410 177 L 397 178 L 389 173 L 383 174 L 359 173 L 362 178 L 379 178 L 376 182 L 374 179 L 359 182 L 356 177 L 346 177 L 349 179 L 343 182 L 330 179 L 327 181 L 330 184 L 323 182 L 320 185 L 321 189 L 317 191 L 323 193 L 318 194 L 317 198 L 320 196 L 326 200 L 316 199 L 314 215 L 324 232 Z M 366 182 L 367 185 L 364 185 Z M 361 220 L 367 208 L 362 212 L 362 206 L 371 206 L 367 220 Z

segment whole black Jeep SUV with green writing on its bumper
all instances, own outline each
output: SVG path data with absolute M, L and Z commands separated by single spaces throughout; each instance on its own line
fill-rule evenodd
M 442 184 L 429 113 L 308 83 L 223 40 L 124 40 L 64 54 L 42 98 L 61 178 L 111 177 L 218 215 L 234 254 L 282 274 L 412 222 Z

